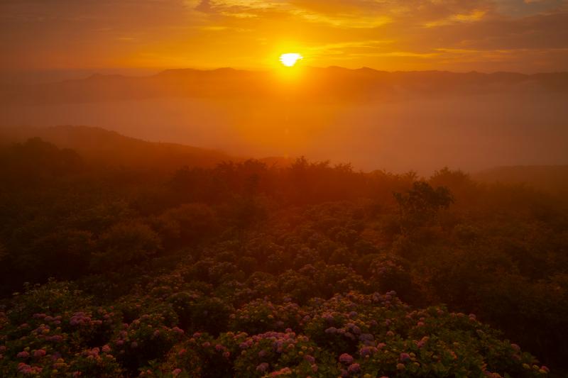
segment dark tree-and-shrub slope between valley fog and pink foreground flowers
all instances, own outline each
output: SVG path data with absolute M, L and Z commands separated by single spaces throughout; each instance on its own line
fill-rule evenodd
M 476 313 L 566 369 L 568 209 L 528 187 L 303 158 L 165 175 L 88 165 L 41 140 L 4 148 L 0 173 L 6 298 L 55 277 L 111 304 L 175 270 L 183 292 L 204 296 L 180 309 L 178 325 L 218 335 L 238 330 L 231 316 L 250 301 L 313 306 L 395 290 L 413 306 Z

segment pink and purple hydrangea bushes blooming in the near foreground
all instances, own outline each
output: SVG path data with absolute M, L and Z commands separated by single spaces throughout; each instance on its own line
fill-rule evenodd
M 188 268 L 114 305 L 69 284 L 30 287 L 0 314 L 3 377 L 545 377 L 474 314 L 415 309 L 394 291 L 300 306 L 254 280 L 197 289 Z M 277 284 L 277 282 L 274 282 Z M 77 297 L 83 298 L 77 301 Z M 183 326 L 183 328 L 180 328 Z M 207 331 L 209 330 L 209 332 Z

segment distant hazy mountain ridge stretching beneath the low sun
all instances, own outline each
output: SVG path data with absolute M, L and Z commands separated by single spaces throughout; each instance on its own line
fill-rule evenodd
M 310 101 L 375 101 L 421 96 L 553 91 L 568 94 L 568 72 L 384 72 L 368 67 L 299 68 L 297 79 L 273 72 L 219 68 L 165 70 L 146 77 L 93 74 L 85 79 L 0 86 L 0 104 L 62 104 L 170 97 L 266 99 L 294 96 Z

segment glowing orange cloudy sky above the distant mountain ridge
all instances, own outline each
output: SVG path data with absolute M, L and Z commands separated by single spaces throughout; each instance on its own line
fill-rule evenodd
M 567 0 L 2 0 L 0 68 L 568 70 Z

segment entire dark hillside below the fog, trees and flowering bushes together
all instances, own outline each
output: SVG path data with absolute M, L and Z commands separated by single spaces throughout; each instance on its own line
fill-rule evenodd
M 0 174 L 0 376 L 567 371 L 562 198 L 304 159 L 102 167 L 39 139 Z

